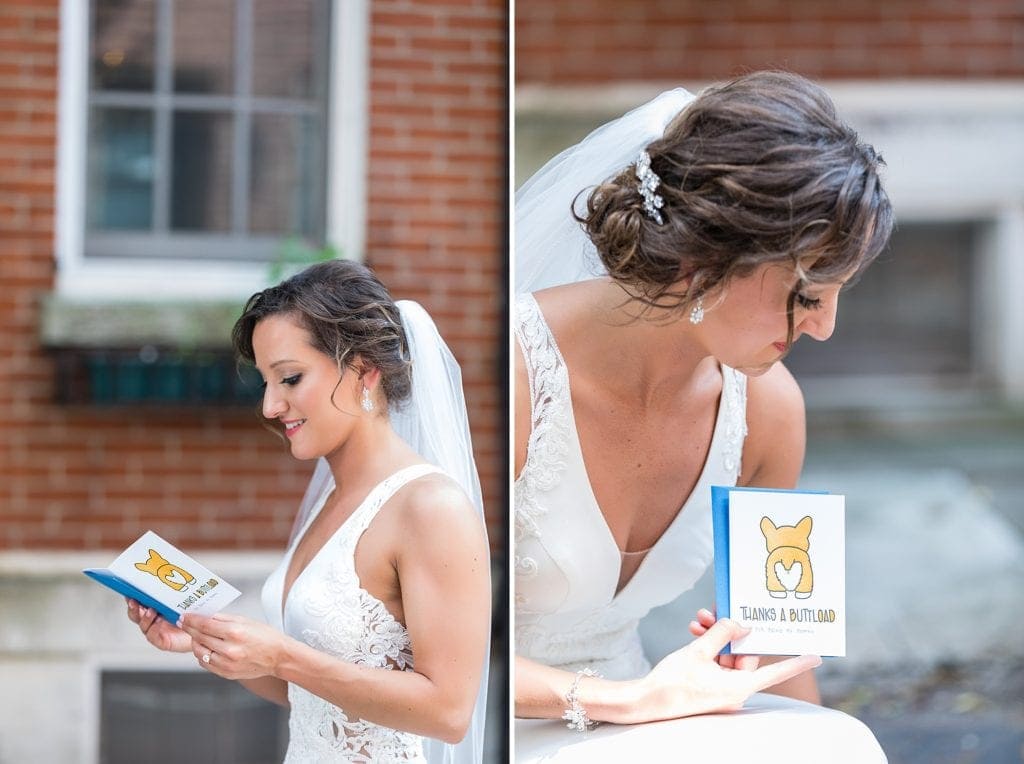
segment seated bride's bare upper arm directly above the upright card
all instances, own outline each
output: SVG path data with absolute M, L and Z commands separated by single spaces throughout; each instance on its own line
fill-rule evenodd
M 775 364 L 746 382 L 746 441 L 740 483 L 795 485 L 804 462 L 804 395 L 793 374 Z

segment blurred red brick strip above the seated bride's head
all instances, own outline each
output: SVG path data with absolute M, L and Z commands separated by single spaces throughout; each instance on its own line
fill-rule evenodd
M 1020 0 L 517 0 L 516 82 L 1024 76 Z

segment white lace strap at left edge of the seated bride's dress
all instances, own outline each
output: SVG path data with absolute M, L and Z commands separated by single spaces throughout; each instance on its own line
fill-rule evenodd
M 565 469 L 569 449 L 568 372 L 555 338 L 532 295 L 520 295 L 515 304 L 515 334 L 522 348 L 529 379 L 530 433 L 526 463 L 515 481 L 515 542 L 540 538 L 537 518 L 547 511 L 539 496 L 549 491 Z M 529 578 L 537 574 L 531 557 L 514 556 L 515 575 Z M 518 595 L 517 595 L 518 596 Z

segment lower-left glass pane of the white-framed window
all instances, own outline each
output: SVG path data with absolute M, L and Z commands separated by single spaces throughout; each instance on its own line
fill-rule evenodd
M 150 228 L 153 168 L 153 112 L 93 109 L 86 194 L 89 228 Z

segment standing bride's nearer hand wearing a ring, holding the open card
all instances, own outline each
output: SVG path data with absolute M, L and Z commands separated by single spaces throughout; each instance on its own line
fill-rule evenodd
M 181 624 L 200 666 L 224 679 L 272 676 L 281 660 L 285 636 L 258 621 L 217 613 L 183 616 Z

